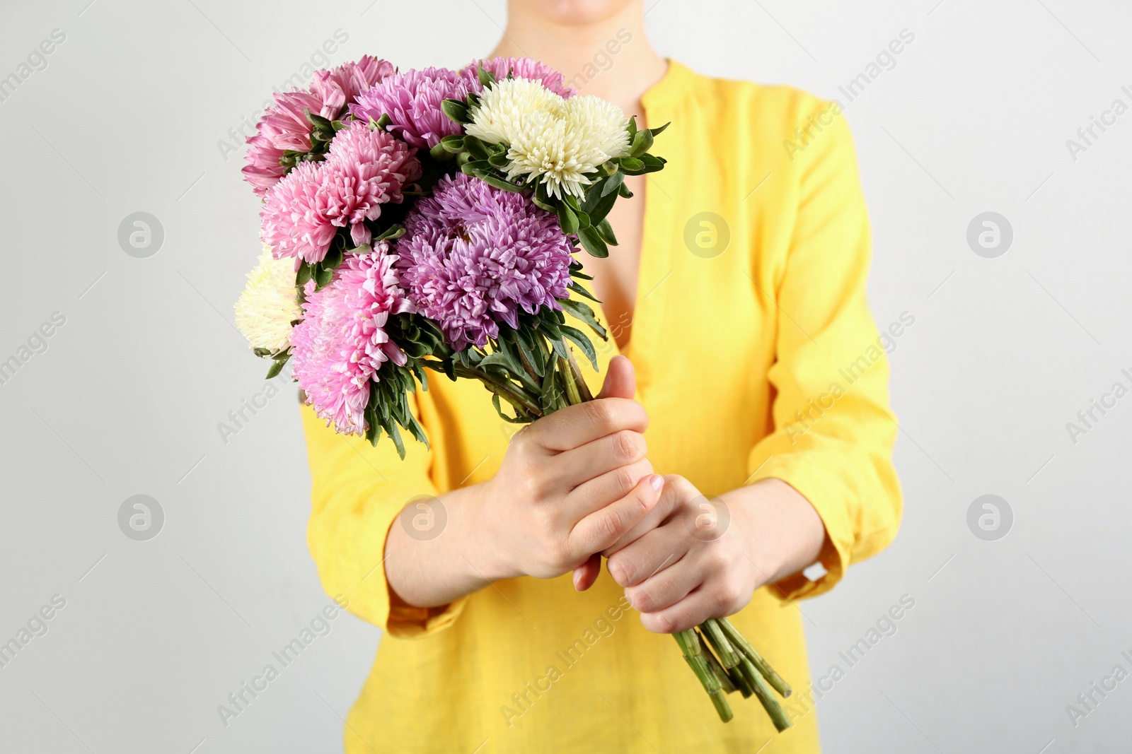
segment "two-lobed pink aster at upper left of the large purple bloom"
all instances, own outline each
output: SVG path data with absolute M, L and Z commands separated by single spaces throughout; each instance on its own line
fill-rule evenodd
M 420 162 L 391 133 L 354 121 L 331 142 L 326 162 L 302 162 L 268 193 L 259 216 L 260 237 L 275 257 L 321 261 L 338 228 L 355 246 L 372 237 L 366 220 L 381 205 L 401 202 L 402 188 L 420 177 Z

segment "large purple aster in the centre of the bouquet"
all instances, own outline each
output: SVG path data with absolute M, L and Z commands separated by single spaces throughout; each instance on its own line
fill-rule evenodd
M 518 312 L 561 309 L 573 245 L 558 218 L 525 193 L 463 173 L 445 176 L 405 217 L 402 285 L 457 350 L 518 327 Z

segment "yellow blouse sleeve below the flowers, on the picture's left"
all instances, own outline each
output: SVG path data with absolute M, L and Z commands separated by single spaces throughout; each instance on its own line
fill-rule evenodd
M 410 406 L 420 418 L 412 398 Z M 452 625 L 466 598 L 438 608 L 410 607 L 394 597 L 385 575 L 385 541 L 397 514 L 414 497 L 439 494 L 430 475 L 431 452 L 405 435 L 401 460 L 388 437 L 375 448 L 335 433 L 311 408 L 301 410 L 311 477 L 307 544 L 324 589 L 344 595 L 351 613 L 393 636 Z

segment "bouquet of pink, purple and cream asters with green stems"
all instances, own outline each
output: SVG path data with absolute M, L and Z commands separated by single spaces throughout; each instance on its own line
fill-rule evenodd
M 664 166 L 663 130 L 533 60 L 318 71 L 248 139 L 264 251 L 237 324 L 268 378 L 290 361 L 319 417 L 402 458 L 402 431 L 428 443 L 409 396 L 429 370 L 479 380 L 513 423 L 591 400 L 574 349 L 598 369 L 595 350 L 566 313 L 607 333 L 574 254 L 617 244 L 606 216 L 626 175 Z M 790 688 L 728 621 L 676 640 L 724 721 L 739 691 L 789 727 L 771 687 Z

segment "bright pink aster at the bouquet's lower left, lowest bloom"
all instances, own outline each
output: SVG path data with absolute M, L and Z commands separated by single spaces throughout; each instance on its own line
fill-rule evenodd
M 344 434 L 366 432 L 369 385 L 381 365 L 408 361 L 385 330 L 391 315 L 412 311 L 396 261 L 384 241 L 370 253 L 348 254 L 321 291 L 307 283 L 303 320 L 291 331 L 294 379 L 315 413 Z

